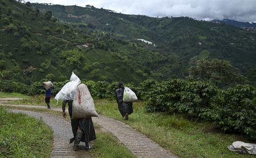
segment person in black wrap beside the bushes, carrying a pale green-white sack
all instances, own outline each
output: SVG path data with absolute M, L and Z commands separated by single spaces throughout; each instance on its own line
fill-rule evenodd
M 115 91 L 115 96 L 116 96 L 118 109 L 122 117 L 124 117 L 125 120 L 128 120 L 129 115 L 133 113 L 133 102 L 123 102 L 123 92 L 124 92 L 123 84 L 118 83 L 117 87 L 118 89 L 116 89 Z

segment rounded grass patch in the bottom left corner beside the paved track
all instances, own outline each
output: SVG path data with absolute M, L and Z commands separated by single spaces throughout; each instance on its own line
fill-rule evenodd
M 50 127 L 41 120 L 0 107 L 0 157 L 49 157 L 52 139 Z

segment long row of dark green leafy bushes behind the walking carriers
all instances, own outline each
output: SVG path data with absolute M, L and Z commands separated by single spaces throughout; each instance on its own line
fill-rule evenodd
M 45 80 L 44 80 L 45 81 Z M 65 82 L 53 82 L 56 95 Z M 117 82 L 82 80 L 94 98 L 114 99 Z M 44 94 L 42 82 L 31 85 L 0 80 L 0 91 L 20 92 L 28 95 Z M 255 137 L 256 89 L 237 85 L 227 90 L 201 81 L 168 79 L 163 82 L 145 80 L 140 85 L 125 84 L 145 104 L 148 112 L 174 110 L 216 123 L 225 131 L 238 131 Z

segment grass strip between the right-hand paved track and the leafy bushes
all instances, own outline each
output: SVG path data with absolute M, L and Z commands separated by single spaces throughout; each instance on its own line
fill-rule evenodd
M 114 101 L 96 100 L 96 109 L 99 114 L 129 124 L 180 157 L 251 156 L 227 149 L 234 141 L 251 140 L 240 135 L 223 133 L 209 122 L 196 121 L 178 114 L 146 113 L 142 103 L 134 104 L 134 113 L 128 121 L 121 117 Z

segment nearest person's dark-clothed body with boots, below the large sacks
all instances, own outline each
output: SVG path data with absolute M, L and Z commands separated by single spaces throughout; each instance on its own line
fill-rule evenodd
M 69 105 L 69 116 L 71 119 L 71 127 L 73 132 L 73 138 L 70 139 L 70 144 L 74 142 L 74 151 L 79 150 L 79 143 L 85 142 L 86 149 L 90 150 L 89 142 L 96 139 L 96 134 L 93 126 L 92 118 L 84 119 L 72 119 L 72 104 L 73 100 L 63 100 L 62 102 L 62 116 L 67 117 L 65 112 L 66 104 Z

